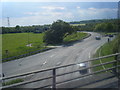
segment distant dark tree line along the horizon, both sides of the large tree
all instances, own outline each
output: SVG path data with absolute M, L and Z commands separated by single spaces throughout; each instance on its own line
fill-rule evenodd
M 120 22 L 117 19 L 101 19 L 101 20 L 85 20 L 85 21 L 73 21 L 66 22 L 68 24 L 85 24 L 78 25 L 79 31 L 96 31 L 96 32 L 118 32 Z M 49 25 L 33 25 L 33 26 L 19 26 L 16 27 L 2 27 L 2 34 L 6 33 L 42 33 L 51 29 Z

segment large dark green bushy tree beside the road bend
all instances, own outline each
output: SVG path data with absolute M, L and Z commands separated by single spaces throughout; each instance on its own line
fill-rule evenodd
M 43 41 L 47 44 L 58 44 L 63 42 L 64 36 L 71 34 L 73 28 L 66 22 L 62 20 L 57 20 L 52 23 L 51 29 L 45 32 Z

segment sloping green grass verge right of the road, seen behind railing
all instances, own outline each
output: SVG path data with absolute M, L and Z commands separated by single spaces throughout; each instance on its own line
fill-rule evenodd
M 114 49 L 114 45 L 115 45 L 116 40 L 117 39 L 115 38 L 113 41 L 110 41 L 109 43 L 106 43 L 102 47 L 100 47 L 97 50 L 97 52 L 96 52 L 94 57 L 100 57 L 100 56 L 113 54 L 113 49 Z M 101 64 L 101 63 L 113 61 L 113 60 L 115 60 L 115 57 L 109 57 L 109 58 L 93 61 L 92 64 L 96 65 L 96 64 Z M 98 66 L 98 67 L 94 68 L 93 71 L 104 70 L 104 69 L 110 68 L 112 66 L 114 66 L 113 63 L 112 64 L 107 64 L 107 65 Z

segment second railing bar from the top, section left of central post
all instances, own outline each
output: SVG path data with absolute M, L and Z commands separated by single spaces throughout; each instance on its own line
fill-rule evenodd
M 25 84 L 29 84 L 29 83 L 33 83 L 33 82 L 37 82 L 37 81 L 42 81 L 42 80 L 46 80 L 46 79 L 50 79 L 50 78 L 53 78 L 53 76 L 46 77 L 46 78 L 35 79 L 35 80 L 31 80 L 31 81 L 25 81 L 25 82 L 12 84 L 12 85 L 8 85 L 8 86 L 3 86 L 2 89 L 16 87 L 16 86 L 20 86 L 20 85 L 25 85 Z

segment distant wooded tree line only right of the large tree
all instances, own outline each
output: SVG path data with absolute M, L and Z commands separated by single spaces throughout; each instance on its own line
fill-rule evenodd
M 70 24 L 85 24 L 78 25 L 80 31 L 119 32 L 118 28 L 120 28 L 118 19 L 86 20 L 70 22 Z

